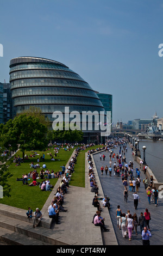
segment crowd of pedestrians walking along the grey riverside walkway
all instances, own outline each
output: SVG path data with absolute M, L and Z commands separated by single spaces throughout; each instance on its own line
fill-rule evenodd
M 141 171 L 137 167 L 135 168 L 134 171 L 134 163 L 132 161 L 127 162 L 127 144 L 128 141 L 126 139 L 120 139 L 117 140 L 115 144 L 113 142 L 110 142 L 109 146 L 105 147 L 105 150 L 108 151 L 109 153 L 110 167 L 108 168 L 107 165 L 104 167 L 103 165 L 101 167 L 101 174 L 103 175 L 103 172 L 106 168 L 108 170 L 110 169 L 110 176 L 113 172 L 115 177 L 121 177 L 122 186 L 124 187 L 124 202 L 127 203 L 129 193 L 133 193 L 132 195 L 134 200 L 134 208 L 135 210 L 137 210 L 137 205 L 140 202 L 139 188 L 141 182 Z M 114 152 L 115 149 L 116 151 L 118 150 L 118 153 Z M 131 149 L 133 150 L 132 145 Z M 102 154 L 99 154 L 99 158 L 102 161 Z M 142 162 L 140 162 L 140 167 L 141 164 Z M 144 173 L 146 175 L 146 170 Z M 145 185 L 145 192 L 148 198 L 147 202 L 149 204 L 151 204 L 151 202 L 154 202 L 155 206 L 158 206 L 158 190 L 156 190 L 156 187 L 153 186 L 153 176 L 151 175 L 149 180 L 147 179 L 147 176 L 145 176 L 145 179 L 143 179 L 143 184 Z M 98 207 L 100 207 L 100 205 Z M 137 227 L 139 226 L 143 245 L 150 245 L 149 237 L 151 237 L 152 234 L 149 227 L 149 222 L 151 220 L 151 214 L 147 208 L 145 209 L 144 212 L 141 212 L 140 216 L 137 216 L 136 211 L 134 212 L 133 215 L 130 214 L 129 210 L 127 213 L 122 212 L 120 205 L 118 205 L 116 210 L 116 219 L 117 227 L 119 229 L 122 229 L 122 237 L 126 238 L 128 235 L 130 241 L 134 230 L 135 234 L 138 234 Z

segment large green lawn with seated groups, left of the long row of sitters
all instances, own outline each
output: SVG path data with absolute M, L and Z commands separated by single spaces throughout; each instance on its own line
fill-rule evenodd
M 51 161 L 51 156 L 48 155 L 49 152 L 53 154 L 54 148 L 51 150 L 45 151 L 45 164 L 47 169 L 54 170 L 54 172 L 57 172 L 58 170 L 61 170 L 60 166 L 63 164 L 66 165 L 67 161 L 70 159 L 71 154 L 73 153 L 73 149 L 70 151 L 65 151 L 64 149 L 60 149 L 59 153 L 57 154 L 56 159 L 60 159 L 60 161 Z M 32 152 L 26 152 L 25 154 L 30 155 Z M 23 174 L 28 174 L 32 168 L 30 168 L 30 163 L 33 161 L 34 163 L 37 163 L 37 157 L 40 158 L 40 156 L 43 154 L 43 152 L 37 151 L 39 156 L 36 157 L 29 157 L 29 160 L 25 160 L 24 163 L 21 163 L 21 166 L 16 166 L 16 164 L 13 162 L 13 157 L 8 161 L 10 163 L 9 170 L 11 174 L 13 175 L 10 180 L 9 184 L 11 185 L 11 197 L 5 197 L 0 200 L 0 203 L 15 206 L 17 208 L 21 209 L 28 209 L 28 207 L 32 209 L 36 209 L 36 207 L 39 207 L 42 209 L 42 206 L 45 204 L 49 194 L 51 192 L 49 191 L 40 191 L 39 186 L 30 187 L 27 185 L 22 185 L 22 181 L 16 181 L 17 178 L 22 178 Z M 22 157 L 21 151 L 18 151 L 16 156 L 20 155 Z M 42 167 L 43 162 L 40 162 L 40 167 Z M 37 172 L 40 173 L 41 168 L 37 168 Z M 55 185 L 58 179 L 51 179 L 51 184 Z M 42 180 L 37 180 L 41 182 Z M 32 179 L 28 182 L 32 182 Z

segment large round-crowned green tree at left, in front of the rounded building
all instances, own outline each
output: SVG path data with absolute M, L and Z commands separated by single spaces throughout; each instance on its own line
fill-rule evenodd
M 9 120 L 2 129 L 1 141 L 5 148 L 14 151 L 21 149 L 24 158 L 26 150 L 44 150 L 47 146 L 47 126 L 39 118 L 20 114 Z

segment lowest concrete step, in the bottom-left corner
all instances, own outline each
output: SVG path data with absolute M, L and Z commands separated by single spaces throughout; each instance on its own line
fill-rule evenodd
M 0 229 L 0 241 L 3 241 L 8 245 L 49 245 L 46 242 L 32 239 L 31 237 L 5 228 Z

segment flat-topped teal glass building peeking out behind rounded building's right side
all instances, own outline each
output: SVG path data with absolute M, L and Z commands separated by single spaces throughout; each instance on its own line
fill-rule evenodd
M 97 92 L 97 96 L 101 100 L 102 105 L 105 108 L 105 111 L 110 111 L 111 112 L 111 123 L 112 123 L 112 95 Z

